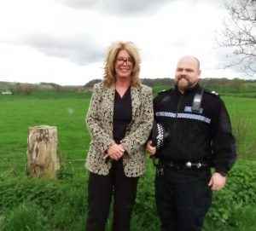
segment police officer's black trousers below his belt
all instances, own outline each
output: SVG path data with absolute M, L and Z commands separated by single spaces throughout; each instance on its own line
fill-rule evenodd
M 211 170 L 176 170 L 164 166 L 155 176 L 161 231 L 199 231 L 212 203 Z

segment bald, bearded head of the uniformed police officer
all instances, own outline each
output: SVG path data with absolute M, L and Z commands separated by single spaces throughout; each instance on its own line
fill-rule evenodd
M 177 62 L 175 83 L 182 93 L 197 84 L 201 75 L 198 61 L 192 56 L 184 56 Z

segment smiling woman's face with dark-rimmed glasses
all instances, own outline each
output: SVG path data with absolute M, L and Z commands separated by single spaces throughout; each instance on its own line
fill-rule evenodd
M 125 49 L 121 49 L 116 56 L 114 62 L 114 70 L 116 78 L 129 78 L 131 79 L 131 72 L 133 70 L 134 61 Z

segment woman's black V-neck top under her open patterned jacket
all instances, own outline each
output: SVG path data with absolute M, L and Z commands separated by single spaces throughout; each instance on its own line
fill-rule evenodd
M 113 140 L 119 143 L 125 138 L 125 132 L 128 124 L 131 123 L 131 88 L 125 91 L 125 95 L 121 98 L 117 90 L 115 90 L 113 103 Z

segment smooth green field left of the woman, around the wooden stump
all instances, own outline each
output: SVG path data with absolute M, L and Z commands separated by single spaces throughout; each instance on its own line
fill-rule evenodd
M 61 158 L 67 159 L 68 165 L 84 168 L 82 159 L 90 142 L 84 117 L 90 95 L 4 96 L 0 98 L 1 170 L 9 164 L 24 169 L 28 128 L 41 124 L 57 126 Z

